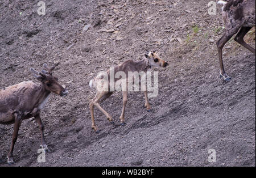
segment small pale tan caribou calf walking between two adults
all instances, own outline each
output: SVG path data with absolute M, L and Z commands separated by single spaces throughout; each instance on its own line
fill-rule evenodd
M 158 54 L 155 52 L 147 52 L 145 54 L 145 57 L 141 61 L 133 61 L 133 60 L 128 60 L 125 61 L 117 66 L 114 67 L 114 74 L 117 74 L 118 72 L 122 71 L 123 73 L 126 74 L 126 77 L 129 76 L 127 75 L 129 72 L 138 72 L 140 73 L 141 71 L 144 71 L 145 73 L 148 70 L 151 70 L 154 67 L 166 67 L 168 63 L 164 60 L 162 60 Z M 108 74 L 108 78 L 110 78 L 110 70 L 106 71 Z M 106 112 L 101 106 L 100 103 L 104 101 L 105 99 L 109 98 L 113 94 L 113 91 L 110 91 L 110 81 L 108 81 L 108 88 L 107 90 L 100 90 L 98 86 L 101 86 L 102 83 L 104 83 L 104 78 L 102 78 L 101 74 L 97 75 L 96 78 L 90 80 L 89 86 L 90 88 L 96 88 L 96 96 L 90 101 L 90 114 L 92 117 L 92 129 L 98 133 L 100 130 L 97 128 L 95 122 L 94 122 L 94 106 L 96 106 L 104 115 L 108 118 L 110 121 L 110 124 L 114 124 L 113 118 L 111 115 L 109 115 L 108 112 Z M 111 80 L 111 79 L 110 79 Z M 114 82 L 118 82 L 118 80 L 121 79 L 114 79 Z M 126 81 L 128 80 L 127 78 L 125 79 Z M 121 125 L 125 125 L 125 107 L 127 104 L 127 90 L 123 91 L 122 90 L 122 95 L 123 95 L 123 108 L 122 108 L 122 113 L 121 116 L 119 117 L 121 121 Z M 148 95 L 147 95 L 147 90 L 144 91 L 144 96 L 145 96 L 145 107 L 148 112 L 151 111 L 150 104 L 148 103 Z

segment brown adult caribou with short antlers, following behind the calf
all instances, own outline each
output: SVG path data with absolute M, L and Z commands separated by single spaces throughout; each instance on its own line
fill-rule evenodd
M 34 117 L 39 124 L 41 132 L 41 147 L 48 150 L 46 141 L 44 141 L 44 127 L 40 117 L 40 111 L 46 104 L 49 95 L 52 93 L 67 96 L 68 90 L 64 89 L 58 82 L 57 78 L 52 76 L 54 66 L 49 68 L 46 63 L 43 65 L 44 70 L 41 72 L 30 69 L 34 77 L 41 84 L 37 85 L 33 82 L 22 82 L 14 86 L 6 87 L 0 90 L 0 124 L 14 124 L 13 141 L 7 162 L 14 163 L 13 149 L 18 131 L 22 120 Z

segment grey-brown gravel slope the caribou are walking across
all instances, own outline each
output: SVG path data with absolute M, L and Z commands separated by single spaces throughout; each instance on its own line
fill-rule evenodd
M 14 149 L 14 166 L 255 166 L 255 56 L 229 41 L 226 72 L 218 78 L 216 41 L 224 31 L 220 6 L 191 1 L 0 2 L 0 88 L 32 80 L 30 67 L 55 65 L 69 90 L 52 95 L 42 111 L 51 152 L 38 163 L 40 132 L 25 120 Z M 88 29 L 83 31 L 86 25 Z M 88 26 L 86 26 L 88 27 Z M 255 46 L 255 28 L 246 41 Z M 170 65 L 159 69 L 159 95 L 143 107 L 141 92 L 129 92 L 126 125 L 119 125 L 122 94 L 102 103 L 110 125 L 95 109 L 90 128 L 89 80 L 99 71 L 156 50 Z M 13 125 L 0 125 L 0 166 L 6 164 Z M 216 162 L 208 162 L 209 149 Z

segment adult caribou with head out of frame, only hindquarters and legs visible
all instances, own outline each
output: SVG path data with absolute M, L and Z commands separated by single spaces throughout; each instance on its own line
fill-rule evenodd
M 255 49 L 243 40 L 246 33 L 255 26 L 255 0 L 225 0 L 218 3 L 223 5 L 222 17 L 226 27 L 224 34 L 217 41 L 220 78 L 230 81 L 231 78 L 225 73 L 222 62 L 222 48 L 238 32 L 234 40 L 255 54 Z

